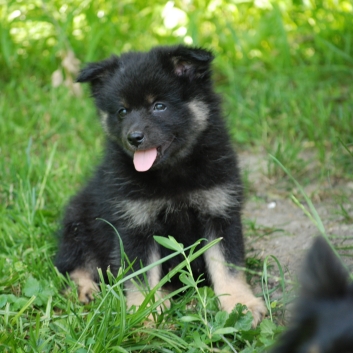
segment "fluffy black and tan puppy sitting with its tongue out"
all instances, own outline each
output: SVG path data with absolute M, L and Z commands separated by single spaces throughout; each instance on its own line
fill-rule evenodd
M 242 273 L 242 186 L 236 156 L 213 90 L 209 51 L 157 47 L 89 64 L 77 81 L 89 82 L 107 135 L 105 157 L 69 203 L 56 266 L 77 283 L 82 302 L 97 289 L 97 268 L 117 273 L 118 230 L 135 270 L 169 251 L 153 235 L 172 235 L 185 246 L 223 237 L 193 263 L 204 273 L 224 310 L 240 302 L 254 324 L 265 313 Z M 89 128 L 89 127 L 88 127 Z M 180 259 L 148 273 L 154 287 Z M 144 297 L 132 282 L 127 303 Z

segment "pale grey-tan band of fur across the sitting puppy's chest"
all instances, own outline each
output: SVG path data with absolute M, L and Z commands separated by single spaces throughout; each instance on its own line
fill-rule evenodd
M 115 214 L 128 226 L 141 227 L 153 222 L 189 221 L 197 217 L 225 217 L 240 200 L 234 186 L 222 185 L 193 190 L 172 197 L 117 200 Z

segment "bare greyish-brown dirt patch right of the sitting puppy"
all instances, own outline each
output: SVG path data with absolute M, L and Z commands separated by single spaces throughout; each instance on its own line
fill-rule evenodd
M 283 183 L 279 188 L 276 181 L 267 178 L 267 161 L 266 154 L 239 154 L 241 168 L 250 185 L 243 211 L 245 230 L 248 233 L 247 254 L 257 254 L 262 259 L 267 255 L 276 256 L 286 270 L 286 278 L 289 279 L 296 277 L 303 257 L 313 238 L 319 235 L 319 230 L 291 200 L 290 189 L 295 189 L 293 182 L 288 180 L 287 190 L 284 191 Z M 353 182 L 340 182 L 332 186 L 321 181 L 316 185 L 314 183 L 305 186 L 304 189 L 314 203 L 326 233 L 338 246 L 340 254 L 348 255 L 343 259 L 350 270 L 353 270 L 353 223 L 349 220 L 347 222 L 337 212 L 340 206 L 335 197 L 344 193 L 344 207 L 352 220 Z M 348 249 L 343 250 L 343 247 Z

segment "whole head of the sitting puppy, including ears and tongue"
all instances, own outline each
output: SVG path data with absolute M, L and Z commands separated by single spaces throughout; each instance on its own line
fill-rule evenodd
M 176 163 L 191 153 L 218 100 L 212 90 L 209 51 L 157 47 L 87 65 L 89 82 L 109 138 L 137 171 Z

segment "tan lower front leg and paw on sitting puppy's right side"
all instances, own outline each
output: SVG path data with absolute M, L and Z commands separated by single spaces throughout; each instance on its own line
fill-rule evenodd
M 222 309 L 231 312 L 237 303 L 246 305 L 253 315 L 255 327 L 267 311 L 263 300 L 254 296 L 242 273 L 230 273 L 219 244 L 207 250 L 204 257 Z

